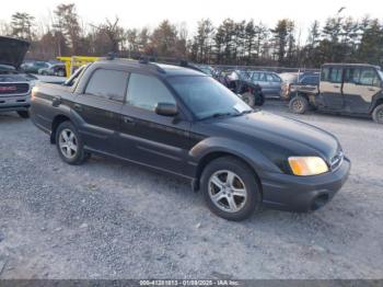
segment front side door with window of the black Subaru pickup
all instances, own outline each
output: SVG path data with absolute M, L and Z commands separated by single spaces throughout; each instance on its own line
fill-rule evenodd
M 120 156 L 182 174 L 189 149 L 190 123 L 181 111 L 177 116 L 158 115 L 154 112 L 158 103 L 176 104 L 176 100 L 159 78 L 132 72 L 123 106 Z

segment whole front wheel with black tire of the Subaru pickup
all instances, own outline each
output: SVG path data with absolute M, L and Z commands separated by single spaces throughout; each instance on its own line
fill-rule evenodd
M 233 157 L 219 158 L 206 167 L 201 190 L 208 208 L 228 220 L 244 220 L 260 207 L 260 187 L 254 172 Z

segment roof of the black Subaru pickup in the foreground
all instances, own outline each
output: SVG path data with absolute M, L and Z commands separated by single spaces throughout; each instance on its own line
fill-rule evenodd
M 96 61 L 96 64 L 107 64 L 107 65 L 118 65 L 124 67 L 130 67 L 136 69 L 144 69 L 150 70 L 153 73 L 158 73 L 162 77 L 169 77 L 169 76 L 206 76 L 205 73 L 197 71 L 193 68 L 186 68 L 186 67 L 179 67 L 174 65 L 165 65 L 165 64 L 156 64 L 156 62 L 144 62 L 144 61 L 138 61 L 138 60 L 130 60 L 130 59 L 107 59 L 103 58 Z

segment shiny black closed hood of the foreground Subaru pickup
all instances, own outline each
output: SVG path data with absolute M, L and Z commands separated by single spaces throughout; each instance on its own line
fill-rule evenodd
M 295 156 L 320 154 L 330 160 L 339 151 L 339 142 L 332 134 L 299 120 L 265 112 L 227 117 L 211 124 L 220 126 L 221 129 L 235 130 L 255 140 L 282 146 Z

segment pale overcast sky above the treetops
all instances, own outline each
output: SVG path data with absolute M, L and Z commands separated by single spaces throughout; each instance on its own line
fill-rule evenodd
M 305 34 L 314 19 L 322 23 L 341 7 L 343 16 L 362 18 L 367 14 L 383 19 L 382 0 L 12 0 L 0 9 L 0 20 L 10 20 L 15 11 L 33 14 L 36 20 L 49 20 L 59 3 L 77 4 L 84 23 L 96 24 L 116 15 L 125 27 L 153 27 L 164 19 L 175 24 L 186 23 L 196 30 L 197 21 L 210 18 L 217 25 L 225 18 L 254 19 L 272 26 L 277 20 L 289 18 Z

